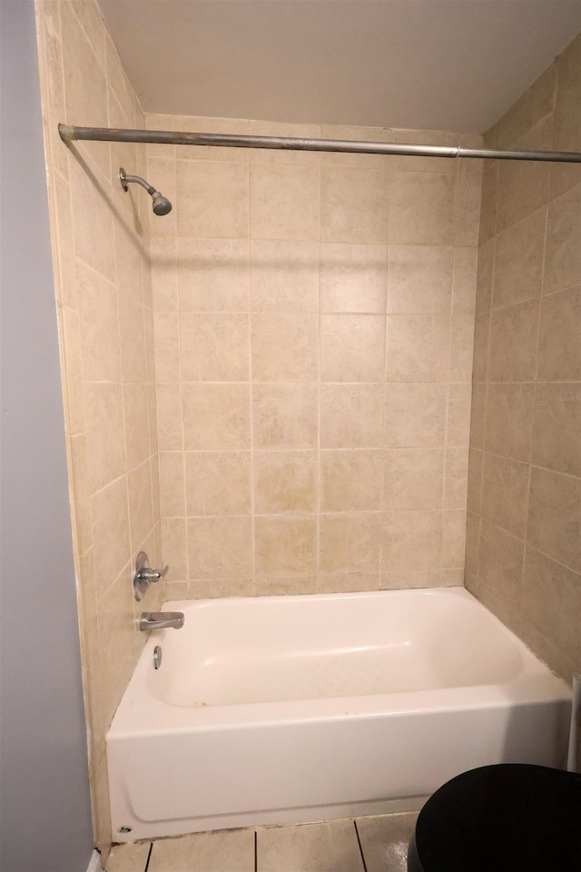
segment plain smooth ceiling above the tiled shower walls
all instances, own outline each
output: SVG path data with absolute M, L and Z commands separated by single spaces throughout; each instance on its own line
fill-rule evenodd
M 99 0 L 146 112 L 483 133 L 581 0 Z

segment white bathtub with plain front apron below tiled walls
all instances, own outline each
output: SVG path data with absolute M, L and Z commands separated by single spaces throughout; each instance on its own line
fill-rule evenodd
M 462 588 L 164 608 L 185 625 L 151 633 L 107 737 L 115 840 L 419 808 L 566 757 L 565 682 Z

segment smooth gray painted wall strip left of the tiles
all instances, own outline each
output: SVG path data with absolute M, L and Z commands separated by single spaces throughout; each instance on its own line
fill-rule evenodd
M 0 870 L 93 850 L 32 0 L 0 2 Z

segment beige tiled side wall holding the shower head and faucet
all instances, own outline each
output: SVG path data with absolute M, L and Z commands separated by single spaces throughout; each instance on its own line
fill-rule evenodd
M 57 133 L 59 122 L 143 126 L 97 6 L 36 9 L 94 829 L 106 848 L 104 734 L 144 641 L 132 567 L 142 548 L 161 560 L 151 201 L 118 181 L 122 165 L 146 173 L 143 146 L 67 148 Z M 144 605 L 159 601 L 152 591 Z

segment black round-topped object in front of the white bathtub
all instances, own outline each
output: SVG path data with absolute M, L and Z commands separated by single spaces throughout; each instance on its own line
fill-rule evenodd
M 526 763 L 483 766 L 428 799 L 409 872 L 581 872 L 581 775 Z

